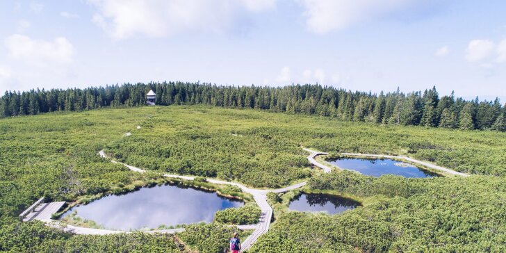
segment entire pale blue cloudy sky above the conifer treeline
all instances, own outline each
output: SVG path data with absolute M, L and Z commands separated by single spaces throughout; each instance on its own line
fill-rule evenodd
M 501 0 L 0 2 L 0 92 L 320 83 L 506 101 Z

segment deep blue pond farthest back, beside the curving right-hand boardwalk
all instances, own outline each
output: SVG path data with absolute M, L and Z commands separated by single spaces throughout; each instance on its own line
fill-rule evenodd
M 402 177 L 434 177 L 436 174 L 417 168 L 409 163 L 391 159 L 338 158 L 329 161 L 332 165 L 346 170 L 356 170 L 368 176 L 380 177 L 384 174 L 395 174 Z

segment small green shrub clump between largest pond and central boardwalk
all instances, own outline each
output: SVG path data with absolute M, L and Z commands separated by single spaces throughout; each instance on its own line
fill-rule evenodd
M 233 225 L 256 224 L 260 220 L 261 210 L 256 204 L 216 212 L 214 221 Z

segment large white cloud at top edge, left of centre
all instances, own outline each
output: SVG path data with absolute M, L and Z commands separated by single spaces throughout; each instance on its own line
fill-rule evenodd
M 223 32 L 248 12 L 275 7 L 275 0 L 88 0 L 97 8 L 92 21 L 113 38 L 153 37 L 181 31 Z

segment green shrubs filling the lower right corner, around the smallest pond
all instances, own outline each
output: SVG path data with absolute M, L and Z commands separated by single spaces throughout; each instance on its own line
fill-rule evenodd
M 406 179 L 332 172 L 311 190 L 354 195 L 340 215 L 279 215 L 252 252 L 504 252 L 506 181 L 498 177 Z M 276 243 L 278 242 L 278 243 Z

